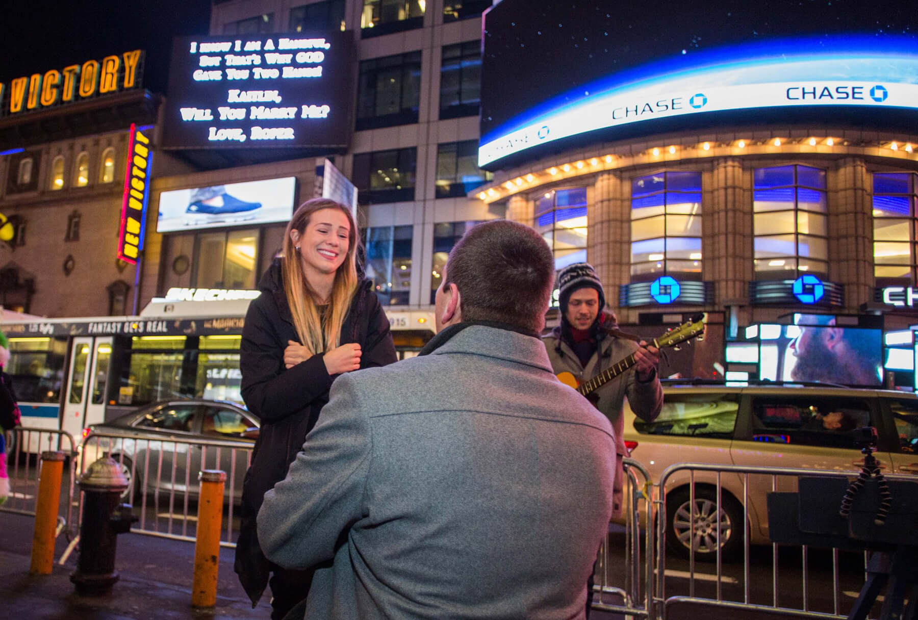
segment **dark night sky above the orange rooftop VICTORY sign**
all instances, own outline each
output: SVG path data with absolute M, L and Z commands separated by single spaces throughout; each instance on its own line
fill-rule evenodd
M 143 84 L 163 93 L 174 35 L 204 35 L 210 0 L 13 0 L 0 19 L 0 82 L 146 50 Z

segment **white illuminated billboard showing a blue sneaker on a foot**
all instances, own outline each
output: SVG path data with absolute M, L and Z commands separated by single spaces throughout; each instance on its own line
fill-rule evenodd
M 156 232 L 286 222 L 296 192 L 292 176 L 162 192 Z

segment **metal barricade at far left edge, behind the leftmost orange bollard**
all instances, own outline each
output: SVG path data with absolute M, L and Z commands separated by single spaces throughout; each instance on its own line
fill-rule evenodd
M 9 440 L 6 453 L 9 496 L 6 498 L 6 503 L 0 504 L 0 510 L 35 516 L 39 495 L 41 452 L 62 451 L 71 457 L 76 444 L 70 433 L 53 428 L 17 426 L 7 431 L 6 437 Z M 57 535 L 60 536 L 62 532 L 65 532 L 69 538 L 76 531 L 73 519 L 73 475 L 65 471 L 61 483 Z

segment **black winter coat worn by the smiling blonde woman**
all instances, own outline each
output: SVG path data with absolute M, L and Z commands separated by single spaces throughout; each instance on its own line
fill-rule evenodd
M 235 570 L 252 603 L 261 598 L 272 570 L 258 545 L 255 517 L 264 493 L 284 480 L 287 468 L 303 448 L 319 411 L 328 403 L 331 382 L 337 376 L 325 370 L 322 354 L 285 370 L 287 341 L 299 342 L 299 337 L 286 301 L 279 260 L 274 260 L 258 287 L 262 294 L 249 305 L 242 327 L 240 367 L 242 398 L 249 411 L 261 419 L 261 432 L 243 482 L 235 561 Z M 341 344 L 351 342 L 360 344 L 361 368 L 397 360 L 389 321 L 369 280 L 358 285 L 341 328 Z

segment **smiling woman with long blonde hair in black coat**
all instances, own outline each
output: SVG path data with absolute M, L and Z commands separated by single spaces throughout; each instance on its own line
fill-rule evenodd
M 242 488 L 235 570 L 257 603 L 269 582 L 272 618 L 306 598 L 312 573 L 265 559 L 255 515 L 266 491 L 284 479 L 341 374 L 396 361 L 386 313 L 358 274 L 360 243 L 350 209 L 314 198 L 297 208 L 283 256 L 259 283 L 242 328 L 241 392 L 261 419 Z

